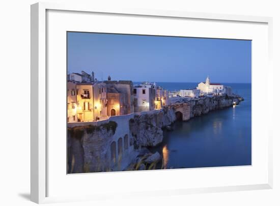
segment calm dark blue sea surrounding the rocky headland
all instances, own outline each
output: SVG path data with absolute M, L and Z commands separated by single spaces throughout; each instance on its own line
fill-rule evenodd
M 198 83 L 157 83 L 168 90 L 194 88 Z M 235 108 L 212 111 L 164 131 L 152 150 L 163 155 L 164 168 L 251 164 L 251 84 L 225 84 L 244 97 Z

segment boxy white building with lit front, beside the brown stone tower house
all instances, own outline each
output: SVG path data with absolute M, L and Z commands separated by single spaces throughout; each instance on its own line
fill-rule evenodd
M 133 86 L 134 112 L 150 111 L 155 109 L 155 83 L 143 82 Z

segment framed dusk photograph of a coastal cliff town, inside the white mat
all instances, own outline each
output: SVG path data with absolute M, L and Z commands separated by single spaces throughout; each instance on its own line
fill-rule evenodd
M 251 40 L 66 35 L 67 174 L 251 166 Z

